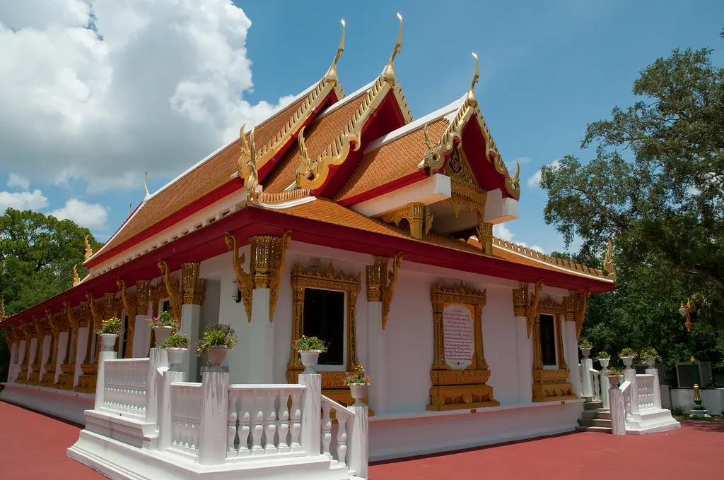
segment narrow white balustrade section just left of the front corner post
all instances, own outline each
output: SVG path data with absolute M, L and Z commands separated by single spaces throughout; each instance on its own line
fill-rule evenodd
M 201 383 L 171 384 L 172 442 L 169 451 L 198 457 L 201 437 Z

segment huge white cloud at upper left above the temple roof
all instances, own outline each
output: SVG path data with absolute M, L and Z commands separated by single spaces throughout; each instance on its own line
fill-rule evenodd
M 0 167 L 89 192 L 174 176 L 291 100 L 243 100 L 249 27 L 230 0 L 0 2 Z

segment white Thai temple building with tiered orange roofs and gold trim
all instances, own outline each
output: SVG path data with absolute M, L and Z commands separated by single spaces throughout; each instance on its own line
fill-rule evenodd
M 192 340 L 235 328 L 234 385 L 296 384 L 293 343 L 317 336 L 329 344 L 321 393 L 349 406 L 342 377 L 361 364 L 371 460 L 573 430 L 577 340 L 589 296 L 615 288 L 610 257 L 602 272 L 493 236 L 518 217 L 521 188 L 481 112 L 477 57 L 458 100 L 413 119 L 401 46 L 400 20 L 382 72 L 345 93 L 342 30 L 319 81 L 146 189 L 87 247 L 85 278 L 0 322 L 12 350 L 2 398 L 85 423 L 101 321 L 123 322 L 119 359 L 142 359 L 146 320 L 168 311 Z M 183 367 L 201 382 L 206 358 L 193 353 Z

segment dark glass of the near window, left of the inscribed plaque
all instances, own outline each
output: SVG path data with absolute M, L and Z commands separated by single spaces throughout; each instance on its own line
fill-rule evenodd
M 345 293 L 341 291 L 304 290 L 304 331 L 327 345 L 319 356 L 320 365 L 343 365 L 345 361 Z

